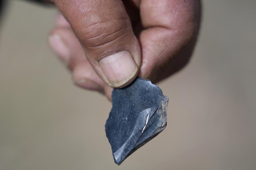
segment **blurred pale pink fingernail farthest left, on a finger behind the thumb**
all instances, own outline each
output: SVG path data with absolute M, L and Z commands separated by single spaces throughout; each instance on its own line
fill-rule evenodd
M 70 50 L 59 34 L 49 36 L 49 44 L 53 51 L 67 64 L 70 59 Z

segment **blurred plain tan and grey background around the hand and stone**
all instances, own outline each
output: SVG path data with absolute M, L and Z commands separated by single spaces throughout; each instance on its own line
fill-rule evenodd
M 158 85 L 168 125 L 122 165 L 111 103 L 75 87 L 47 46 L 54 8 L 10 1 L 0 30 L 0 169 L 256 169 L 256 1 L 203 2 L 190 64 Z

